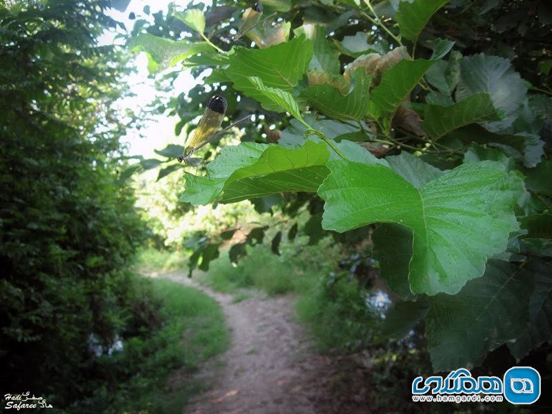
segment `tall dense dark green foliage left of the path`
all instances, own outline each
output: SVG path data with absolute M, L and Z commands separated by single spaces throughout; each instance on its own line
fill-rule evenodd
M 155 325 L 126 270 L 144 230 L 117 175 L 124 57 L 95 44 L 106 6 L 0 6 L 0 388 L 58 407 L 104 375 L 91 335 L 106 351 Z

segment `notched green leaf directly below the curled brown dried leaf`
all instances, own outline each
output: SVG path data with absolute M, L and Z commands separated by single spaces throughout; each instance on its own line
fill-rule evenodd
M 371 81 L 372 78 L 366 75 L 364 68 L 357 68 L 352 73 L 351 88 L 346 95 L 323 83 L 303 90 L 301 96 L 306 97 L 315 109 L 328 117 L 359 121 L 368 113 Z

